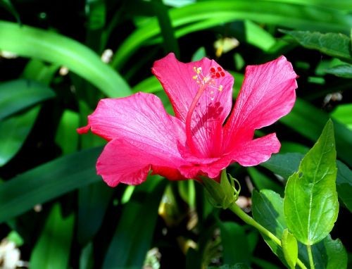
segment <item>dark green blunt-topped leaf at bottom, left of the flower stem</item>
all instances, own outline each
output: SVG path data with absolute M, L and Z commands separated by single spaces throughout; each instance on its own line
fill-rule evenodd
M 244 228 L 237 223 L 219 223 L 222 242 L 222 256 L 225 264 L 244 263 L 250 265 L 251 254 Z

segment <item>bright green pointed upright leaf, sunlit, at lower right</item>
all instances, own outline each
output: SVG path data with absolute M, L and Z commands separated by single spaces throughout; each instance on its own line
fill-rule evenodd
M 289 177 L 285 189 L 287 226 L 303 244 L 319 242 L 334 227 L 339 212 L 336 177 L 334 127 L 329 120 L 298 171 Z

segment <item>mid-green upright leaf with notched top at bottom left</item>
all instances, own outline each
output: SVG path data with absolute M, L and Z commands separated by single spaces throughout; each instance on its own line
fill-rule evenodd
M 70 245 L 75 216 L 63 218 L 60 205 L 55 204 L 46 220 L 42 234 L 30 256 L 32 268 L 69 268 Z

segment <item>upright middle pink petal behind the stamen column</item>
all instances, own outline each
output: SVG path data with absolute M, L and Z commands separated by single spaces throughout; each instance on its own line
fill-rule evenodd
M 153 74 L 160 80 L 168 94 L 176 117 L 184 123 L 189 107 L 199 89 L 199 84 L 193 78 L 196 75 L 194 67 L 201 67 L 205 76 L 210 73 L 210 68 L 215 68 L 215 70 L 221 68 L 218 63 L 208 58 L 193 63 L 181 63 L 177 61 L 174 54 L 168 54 L 165 58 L 156 61 L 152 69 Z M 218 156 L 219 139 L 221 140 L 222 137 L 221 125 L 232 108 L 234 80 L 232 75 L 224 70 L 222 72 L 224 77 L 215 78 L 215 86 L 207 87 L 192 115 L 191 129 L 194 144 L 202 156 Z M 221 91 L 218 89 L 220 85 L 222 85 Z

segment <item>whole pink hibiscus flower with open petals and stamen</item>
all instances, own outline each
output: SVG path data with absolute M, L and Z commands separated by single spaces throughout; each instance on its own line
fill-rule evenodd
M 168 54 L 154 63 L 152 72 L 175 117 L 157 96 L 139 92 L 101 100 L 88 125 L 77 130 L 82 134 L 90 128 L 108 140 L 96 170 L 109 186 L 140 184 L 150 170 L 169 180 L 217 178 L 230 163 L 258 165 L 279 151 L 275 133 L 253 136 L 294 106 L 296 73 L 284 56 L 246 68 L 228 119 L 234 79 L 215 61 L 181 63 Z

